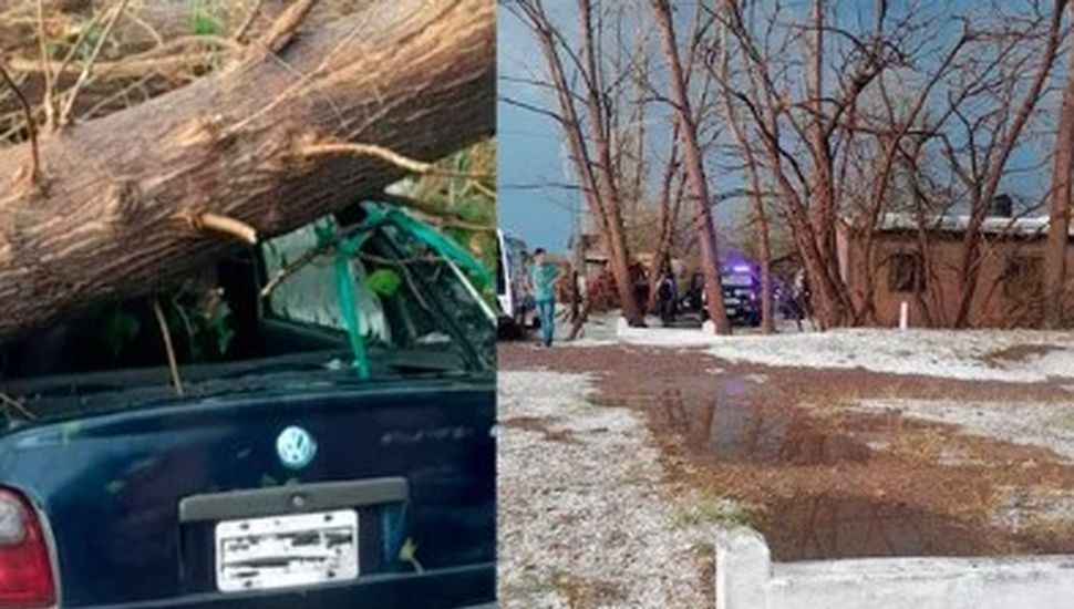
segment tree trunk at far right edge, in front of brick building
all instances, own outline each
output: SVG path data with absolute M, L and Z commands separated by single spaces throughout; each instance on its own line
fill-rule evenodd
M 1071 6 L 1074 7 L 1074 6 Z M 1068 8 L 1071 8 L 1068 7 Z M 1071 8 L 1074 14 L 1074 8 Z M 1070 247 L 1071 188 L 1074 172 L 1074 47 L 1066 66 L 1066 87 L 1060 106 L 1052 164 L 1052 196 L 1049 209 L 1047 245 L 1044 249 L 1044 326 L 1060 328 L 1065 317 L 1066 251 Z

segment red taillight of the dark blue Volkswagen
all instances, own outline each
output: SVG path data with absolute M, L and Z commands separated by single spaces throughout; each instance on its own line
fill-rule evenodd
M 22 495 L 0 488 L 0 607 L 52 607 L 55 600 L 38 515 Z

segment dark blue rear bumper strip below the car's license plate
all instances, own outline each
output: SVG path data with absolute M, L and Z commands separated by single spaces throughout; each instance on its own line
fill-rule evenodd
M 93 609 L 495 609 L 494 564 L 438 569 L 422 575 L 371 576 L 358 582 L 281 591 L 187 595 L 174 599 L 94 605 Z M 66 607 L 64 605 L 63 607 Z

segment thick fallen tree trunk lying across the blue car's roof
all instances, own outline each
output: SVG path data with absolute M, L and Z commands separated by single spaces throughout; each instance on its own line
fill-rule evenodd
M 282 44 L 282 47 L 281 47 Z M 231 241 L 192 221 L 286 231 L 405 175 L 350 142 L 435 159 L 495 128 L 487 0 L 372 2 L 252 43 L 145 104 L 0 151 L 0 340 L 101 298 L 158 291 Z M 277 48 L 276 56 L 268 48 Z

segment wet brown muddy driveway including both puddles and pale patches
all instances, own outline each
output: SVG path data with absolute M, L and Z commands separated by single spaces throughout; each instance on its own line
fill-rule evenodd
M 1058 414 L 1074 401 L 1061 381 L 765 367 L 623 344 L 507 344 L 499 367 L 590 373 L 591 402 L 629 406 L 648 429 L 654 479 L 680 504 L 699 502 L 710 524 L 757 528 L 777 560 L 1074 553 L 1074 467 L 1024 433 L 1033 409 L 1049 414 L 1043 438 L 1066 442 L 1074 423 Z M 729 499 L 739 509 L 712 508 Z

